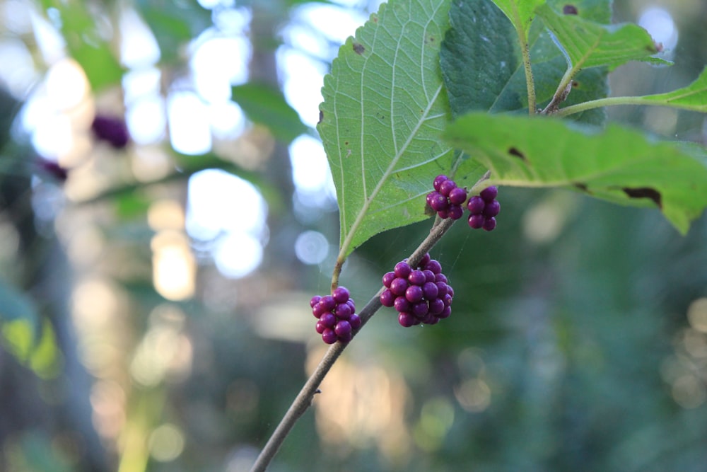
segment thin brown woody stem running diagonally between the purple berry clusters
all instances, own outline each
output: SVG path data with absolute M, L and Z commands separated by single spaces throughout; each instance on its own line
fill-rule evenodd
M 485 180 L 486 178 L 489 178 L 488 172 L 479 180 L 479 182 Z M 476 185 L 478 185 L 478 183 L 474 186 Z M 444 234 L 452 227 L 452 224 L 454 224 L 454 220 L 448 218 L 433 226 L 430 230 L 430 234 L 428 234 L 425 240 L 422 241 L 422 243 L 420 243 L 420 245 L 410 255 L 408 258 L 408 263 L 410 265 L 417 265 L 420 260 L 422 260 L 423 256 L 428 253 L 440 240 L 440 238 L 442 238 L 442 236 L 444 236 Z M 361 310 L 361 313 L 359 313 L 358 316 L 361 316 L 361 328 L 363 328 L 363 325 L 365 325 L 366 322 L 382 306 L 380 304 L 380 294 L 382 291 L 383 287 L 381 287 L 378 293 L 368 301 L 366 306 L 363 307 L 363 310 Z M 354 335 L 356 335 L 361 328 L 358 328 Z M 322 358 L 322 361 L 317 366 L 317 369 L 312 372 L 310 378 L 305 382 L 302 390 L 300 390 L 300 393 L 298 393 L 297 397 L 292 402 L 292 405 L 290 405 L 290 408 L 287 410 L 287 413 L 285 413 L 282 420 L 280 420 L 280 424 L 277 425 L 270 439 L 268 439 L 268 442 L 265 444 L 262 451 L 260 451 L 260 455 L 250 469 L 250 472 L 262 472 L 265 468 L 267 468 L 278 449 L 280 449 L 280 446 L 287 437 L 287 434 L 290 432 L 300 416 L 302 416 L 307 408 L 309 408 L 312 404 L 312 398 L 314 398 L 315 394 L 320 392 L 319 385 L 334 365 L 334 362 L 341 355 L 341 352 L 344 352 L 344 349 L 346 349 L 346 344 L 338 342 L 334 343 L 332 347 L 329 347 L 329 350 L 327 350 L 327 353 Z

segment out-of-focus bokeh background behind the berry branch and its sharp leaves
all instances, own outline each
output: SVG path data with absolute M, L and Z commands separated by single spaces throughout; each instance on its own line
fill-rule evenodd
M 0 0 L 0 471 L 247 471 L 325 345 L 338 217 L 314 130 L 378 4 Z M 617 0 L 689 84 L 703 0 Z M 705 117 L 612 120 L 706 142 Z M 620 150 L 617 150 L 620 151 Z M 578 159 L 581 150 L 578 149 Z M 271 471 L 707 470 L 707 218 L 502 188 L 434 248 L 452 317 L 383 309 Z M 429 222 L 373 238 L 359 306 Z

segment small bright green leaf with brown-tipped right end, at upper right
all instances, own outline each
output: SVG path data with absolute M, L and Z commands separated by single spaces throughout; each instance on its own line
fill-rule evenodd
M 633 23 L 604 25 L 578 15 L 557 13 L 549 5 L 539 6 L 537 15 L 556 36 L 573 71 L 599 66 L 614 69 L 635 60 L 669 64 L 650 57 L 658 48 L 648 32 Z

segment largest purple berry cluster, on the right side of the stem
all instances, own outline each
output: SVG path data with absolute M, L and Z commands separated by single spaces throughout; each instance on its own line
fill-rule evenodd
M 447 283 L 442 265 L 425 254 L 417 267 L 406 260 L 383 275 L 385 290 L 380 294 L 383 306 L 398 311 L 398 323 L 405 328 L 420 323 L 433 325 L 452 313 L 454 289 Z

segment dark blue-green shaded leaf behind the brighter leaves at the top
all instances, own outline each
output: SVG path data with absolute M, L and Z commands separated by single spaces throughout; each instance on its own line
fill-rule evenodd
M 553 1 L 559 4 L 559 1 Z M 610 16 L 606 0 L 575 2 L 579 15 L 593 21 Z M 556 91 L 566 62 L 542 21 L 530 30 L 537 103 L 547 103 Z M 452 114 L 471 110 L 491 113 L 527 110 L 527 88 L 518 40 L 508 18 L 491 0 L 455 2 L 450 8 L 450 30 L 440 52 L 440 64 Z M 604 98 L 609 93 L 603 68 L 581 72 L 573 83 L 566 104 Z M 527 113 L 527 112 L 526 112 Z M 575 120 L 600 125 L 603 110 L 588 110 Z

